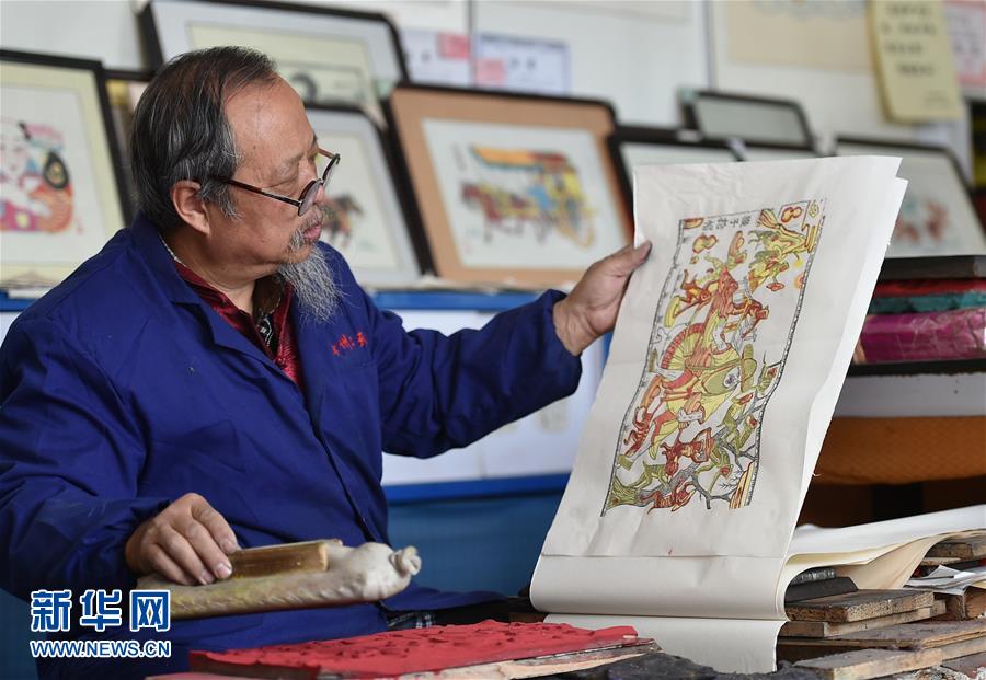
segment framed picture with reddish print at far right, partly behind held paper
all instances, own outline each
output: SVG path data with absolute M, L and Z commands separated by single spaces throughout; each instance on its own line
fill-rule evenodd
M 836 138 L 837 155 L 899 155 L 897 176 L 907 193 L 887 257 L 986 254 L 986 233 L 976 216 L 959 163 L 943 147 Z

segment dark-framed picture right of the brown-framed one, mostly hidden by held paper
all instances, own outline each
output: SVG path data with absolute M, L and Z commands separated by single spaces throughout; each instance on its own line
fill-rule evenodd
M 678 130 L 655 127 L 618 127 L 609 137 L 609 153 L 628 205 L 633 205 L 633 169 L 638 165 L 732 163 L 738 160 L 724 141 L 688 141 L 679 137 Z

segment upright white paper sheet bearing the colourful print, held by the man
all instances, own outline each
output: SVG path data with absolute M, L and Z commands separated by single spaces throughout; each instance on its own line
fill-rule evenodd
M 653 250 L 546 555 L 787 554 L 899 205 L 897 164 L 637 169 L 637 241 Z

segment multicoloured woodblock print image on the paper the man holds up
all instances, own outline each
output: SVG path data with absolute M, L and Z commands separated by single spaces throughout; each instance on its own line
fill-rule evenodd
M 824 200 L 681 220 L 603 514 L 750 503 Z

